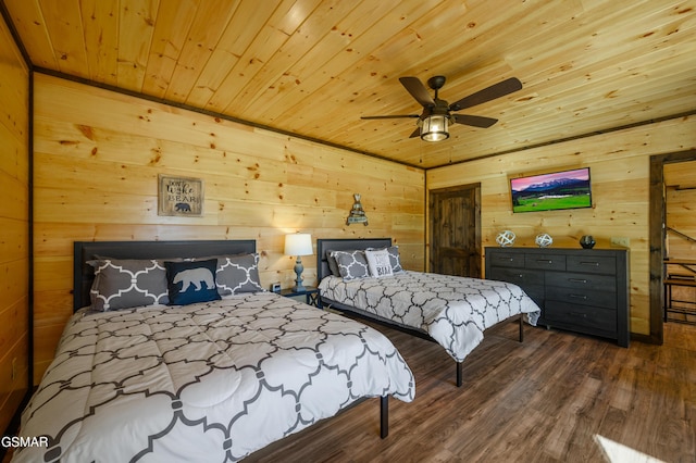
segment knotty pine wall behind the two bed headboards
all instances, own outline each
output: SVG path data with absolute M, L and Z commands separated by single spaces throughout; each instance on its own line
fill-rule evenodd
M 74 240 L 254 238 L 265 286 L 291 286 L 297 230 L 393 237 L 423 268 L 421 170 L 42 74 L 34 115 L 35 381 L 72 313 Z M 159 216 L 158 174 L 201 178 L 204 215 Z M 345 225 L 356 192 L 369 226 Z

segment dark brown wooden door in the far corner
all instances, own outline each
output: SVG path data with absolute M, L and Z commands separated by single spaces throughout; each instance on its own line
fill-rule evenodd
M 430 192 L 430 271 L 481 278 L 481 184 Z

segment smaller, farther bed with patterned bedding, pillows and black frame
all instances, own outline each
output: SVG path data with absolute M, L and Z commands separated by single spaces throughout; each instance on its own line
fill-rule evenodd
M 382 250 L 389 258 L 387 268 L 373 272 L 365 254 Z M 325 305 L 438 342 L 456 361 L 457 386 L 462 385 L 462 363 L 485 329 L 517 317 L 522 341 L 523 317 L 536 325 L 540 314 L 534 301 L 509 283 L 403 271 L 389 238 L 319 239 L 316 255 Z

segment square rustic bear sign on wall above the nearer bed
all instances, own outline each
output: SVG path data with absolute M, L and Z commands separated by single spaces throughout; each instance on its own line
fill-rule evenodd
M 203 215 L 203 180 L 159 176 L 158 215 Z

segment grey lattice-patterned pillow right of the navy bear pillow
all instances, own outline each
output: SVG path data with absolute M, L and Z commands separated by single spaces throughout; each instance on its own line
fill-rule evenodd
M 215 280 L 220 296 L 264 291 L 259 279 L 259 254 L 219 255 Z

